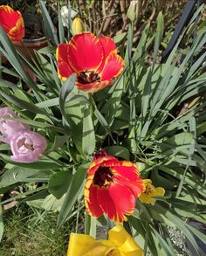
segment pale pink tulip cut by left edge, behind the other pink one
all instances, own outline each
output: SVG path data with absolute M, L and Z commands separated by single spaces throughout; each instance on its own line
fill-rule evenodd
M 2 134 L 2 136 L 0 136 L 0 141 L 2 142 L 9 143 L 10 138 L 12 135 L 14 135 L 14 133 L 30 129 L 29 125 L 27 124 L 24 124 L 20 121 L 3 119 L 3 117 L 17 118 L 17 115 L 13 112 L 12 109 L 10 109 L 10 107 L 0 108 L 0 132 Z

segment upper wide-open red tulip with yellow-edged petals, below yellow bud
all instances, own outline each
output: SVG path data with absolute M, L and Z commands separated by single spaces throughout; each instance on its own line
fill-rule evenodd
M 69 44 L 58 45 L 57 60 L 59 79 L 65 81 L 76 73 L 76 86 L 88 93 L 111 86 L 125 65 L 112 38 L 98 38 L 90 32 L 75 35 Z

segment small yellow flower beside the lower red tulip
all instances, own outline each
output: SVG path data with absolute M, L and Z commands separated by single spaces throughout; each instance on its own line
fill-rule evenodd
M 154 204 L 156 199 L 153 197 L 164 196 L 165 190 L 161 187 L 155 188 L 154 185 L 152 185 L 152 181 L 150 179 L 143 180 L 143 184 L 145 189 L 139 197 L 141 203 Z

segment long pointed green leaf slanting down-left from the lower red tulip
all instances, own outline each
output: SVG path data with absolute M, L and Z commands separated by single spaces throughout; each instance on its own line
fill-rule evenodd
M 73 205 L 76 203 L 77 199 L 81 197 L 88 166 L 89 164 L 81 165 L 72 176 L 72 182 L 70 183 L 69 189 L 65 195 L 65 201 L 58 215 L 58 228 L 65 223 L 66 218 L 69 218 Z

